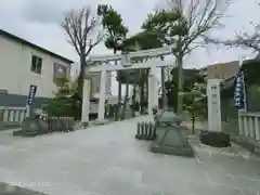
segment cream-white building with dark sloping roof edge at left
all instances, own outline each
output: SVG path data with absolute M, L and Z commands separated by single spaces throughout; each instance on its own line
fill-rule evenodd
M 56 91 L 56 76 L 70 76 L 73 61 L 40 48 L 0 29 L 0 106 L 4 101 L 21 102 L 26 99 L 29 86 L 38 87 L 37 98 L 52 98 Z M 14 98 L 14 95 L 16 95 Z M 10 98 L 9 98 L 10 96 Z

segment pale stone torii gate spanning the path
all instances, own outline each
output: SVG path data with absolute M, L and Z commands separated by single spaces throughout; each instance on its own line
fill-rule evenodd
M 90 79 L 88 78 L 89 73 L 101 72 L 101 87 L 100 87 L 100 100 L 99 100 L 99 113 L 98 122 L 103 123 L 105 113 L 105 82 L 106 73 L 114 70 L 127 70 L 127 69 L 141 69 L 151 68 L 148 76 L 148 115 L 153 115 L 153 107 L 158 106 L 158 80 L 155 77 L 156 67 L 173 66 L 171 62 L 161 60 L 161 56 L 171 55 L 172 46 L 152 49 L 141 50 L 138 52 L 130 52 L 127 54 L 114 54 L 114 55 L 101 55 L 90 56 L 90 67 L 86 67 L 83 81 L 83 100 L 82 100 L 82 113 L 81 122 L 89 122 L 89 110 L 90 110 Z M 134 57 L 143 58 L 141 63 L 134 63 Z M 118 65 L 110 64 L 110 62 L 119 61 Z

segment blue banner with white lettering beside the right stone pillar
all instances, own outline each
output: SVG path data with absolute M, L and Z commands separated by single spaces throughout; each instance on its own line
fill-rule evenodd
M 246 89 L 244 74 L 240 73 L 235 79 L 235 90 L 234 90 L 234 106 L 237 109 L 243 109 L 246 107 Z

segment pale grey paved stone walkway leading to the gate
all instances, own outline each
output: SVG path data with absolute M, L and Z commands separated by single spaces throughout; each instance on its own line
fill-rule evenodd
M 196 158 L 153 154 L 134 139 L 136 120 L 37 138 L 1 132 L 0 182 L 50 195 L 259 195 L 259 158 L 195 136 Z

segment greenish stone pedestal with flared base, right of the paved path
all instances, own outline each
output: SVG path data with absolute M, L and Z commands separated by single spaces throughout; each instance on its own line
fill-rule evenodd
M 156 140 L 151 145 L 154 153 L 164 153 L 178 156 L 194 156 L 194 152 L 187 141 L 187 130 L 180 126 L 181 118 L 167 109 L 156 119 Z

